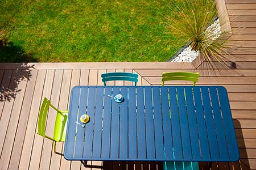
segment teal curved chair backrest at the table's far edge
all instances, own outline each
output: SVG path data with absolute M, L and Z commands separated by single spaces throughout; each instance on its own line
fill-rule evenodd
M 101 78 L 102 78 L 102 82 L 104 83 L 104 86 L 106 86 L 106 82 L 114 81 L 114 80 L 126 80 L 130 82 L 134 82 L 134 86 L 136 86 L 138 82 L 138 74 L 134 74 L 134 73 L 123 73 L 123 72 L 102 73 Z

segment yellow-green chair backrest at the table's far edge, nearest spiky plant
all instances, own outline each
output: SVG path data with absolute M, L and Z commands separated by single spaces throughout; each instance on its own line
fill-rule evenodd
M 181 72 L 174 71 L 171 73 L 163 73 L 162 74 L 162 86 L 164 86 L 164 82 L 169 80 L 187 80 L 193 82 L 193 86 L 196 85 L 196 82 L 199 79 L 199 73 L 190 73 L 190 72 Z

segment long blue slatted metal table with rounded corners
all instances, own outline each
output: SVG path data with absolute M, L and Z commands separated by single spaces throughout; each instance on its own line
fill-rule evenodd
M 115 102 L 108 95 L 122 94 Z M 77 125 L 82 114 L 90 121 Z M 221 86 L 76 86 L 68 160 L 236 162 L 236 134 Z

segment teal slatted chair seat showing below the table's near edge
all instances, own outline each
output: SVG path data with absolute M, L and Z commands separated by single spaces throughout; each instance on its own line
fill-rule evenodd
M 199 170 L 198 162 L 164 162 L 164 170 Z

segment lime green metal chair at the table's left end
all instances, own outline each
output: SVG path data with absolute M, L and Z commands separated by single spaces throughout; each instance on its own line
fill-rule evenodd
M 49 107 L 55 109 L 57 112 L 56 120 L 55 120 L 55 127 L 53 138 L 46 135 L 46 118 L 49 111 Z M 49 101 L 46 97 L 44 97 L 43 103 L 41 105 L 38 117 L 38 134 L 42 135 L 42 137 L 46 137 L 53 141 L 53 151 L 56 153 L 56 142 L 65 142 L 66 136 L 66 122 L 68 118 L 68 111 L 60 111 L 59 109 L 55 108 L 51 101 Z

